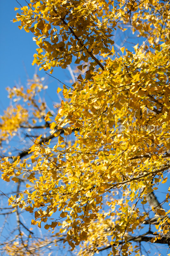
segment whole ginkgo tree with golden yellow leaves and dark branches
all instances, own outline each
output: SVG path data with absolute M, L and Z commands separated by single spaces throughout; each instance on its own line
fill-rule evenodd
M 31 0 L 15 10 L 13 22 L 37 44 L 33 64 L 50 74 L 72 64 L 78 76 L 71 86 L 63 81 L 53 111 L 37 96 L 47 89 L 38 76 L 26 90 L 7 89 L 15 105 L 1 117 L 0 170 L 16 184 L 12 196 L 2 195 L 17 227 L 2 252 L 42 255 L 46 248 L 50 255 L 49 246 L 60 242 L 89 256 L 147 255 L 146 242 L 168 249 L 169 1 Z M 113 35 L 127 28 L 140 44 L 116 52 Z M 5 151 L 7 141 L 24 134 L 28 148 Z M 25 213 L 48 230 L 46 238 L 24 224 Z

